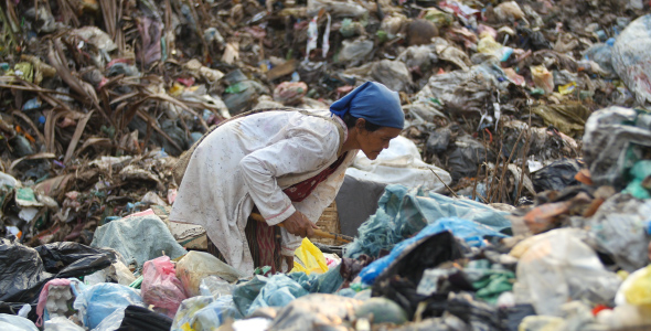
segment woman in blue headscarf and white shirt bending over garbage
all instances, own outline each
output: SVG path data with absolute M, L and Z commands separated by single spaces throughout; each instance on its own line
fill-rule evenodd
M 374 82 L 323 113 L 269 110 L 213 130 L 192 153 L 170 220 L 202 225 L 212 253 L 247 275 L 279 271 L 280 254 L 291 268 L 356 152 L 377 158 L 404 125 L 398 94 Z M 254 207 L 266 224 L 247 221 Z

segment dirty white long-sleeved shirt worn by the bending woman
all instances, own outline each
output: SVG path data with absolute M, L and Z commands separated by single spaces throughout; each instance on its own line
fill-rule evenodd
M 314 114 L 329 117 L 330 111 Z M 334 117 L 344 128 L 339 117 Z M 196 147 L 174 201 L 170 220 L 205 228 L 226 261 L 254 269 L 244 229 L 254 205 L 269 225 L 295 211 L 317 223 L 343 183 L 357 150 L 301 202 L 284 189 L 312 178 L 338 159 L 339 130 L 332 121 L 298 111 L 266 111 L 222 125 Z M 344 138 L 345 140 L 345 138 Z M 282 254 L 294 255 L 301 238 L 281 228 Z

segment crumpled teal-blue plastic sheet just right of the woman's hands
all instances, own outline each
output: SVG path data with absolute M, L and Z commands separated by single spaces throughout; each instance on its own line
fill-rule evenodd
M 381 250 L 391 250 L 404 238 L 444 217 L 477 222 L 499 232 L 511 226 L 506 215 L 509 213 L 471 200 L 451 199 L 403 185 L 387 185 L 380 199 L 377 212 L 360 226 L 360 236 L 345 246 L 344 256 L 356 258 L 366 254 L 376 257 Z

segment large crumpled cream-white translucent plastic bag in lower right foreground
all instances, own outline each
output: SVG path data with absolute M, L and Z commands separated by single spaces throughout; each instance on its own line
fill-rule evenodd
M 547 316 L 561 316 L 561 306 L 570 300 L 612 305 L 621 280 L 604 267 L 586 238 L 581 229 L 559 228 L 513 247 L 511 255 L 520 259 L 516 303 L 531 303 Z

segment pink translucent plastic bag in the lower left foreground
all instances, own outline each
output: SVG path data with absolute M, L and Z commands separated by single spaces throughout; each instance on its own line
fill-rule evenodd
M 169 256 L 145 263 L 142 267 L 142 299 L 156 310 L 174 318 L 181 301 L 188 298 Z

